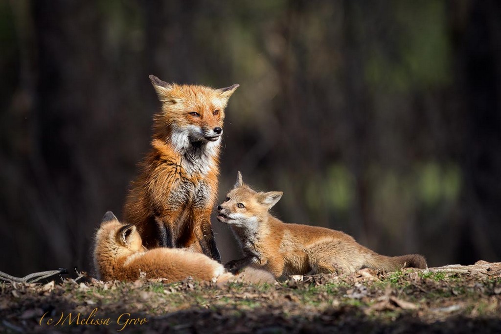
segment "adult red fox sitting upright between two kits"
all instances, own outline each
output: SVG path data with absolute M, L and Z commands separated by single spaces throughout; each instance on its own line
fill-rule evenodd
M 210 213 L 224 108 L 238 85 L 212 89 L 150 80 L 162 108 L 124 205 L 125 221 L 137 227 L 147 248 L 191 246 L 220 262 Z

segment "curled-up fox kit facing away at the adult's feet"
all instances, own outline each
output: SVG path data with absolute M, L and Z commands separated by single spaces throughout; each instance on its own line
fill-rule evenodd
M 147 250 L 135 225 L 121 224 L 111 211 L 106 212 L 95 235 L 94 268 L 102 280 L 134 281 L 144 273 L 145 278 L 165 278 L 169 282 L 188 276 L 217 282 L 274 282 L 269 273 L 258 270 L 234 276 L 201 253 L 172 248 Z

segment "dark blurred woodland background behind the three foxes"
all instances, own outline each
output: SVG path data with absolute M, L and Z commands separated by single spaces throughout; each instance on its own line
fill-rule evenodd
M 149 148 L 149 74 L 240 84 L 220 199 L 240 170 L 285 221 L 501 260 L 501 2 L 0 0 L 0 41 L 2 271 L 89 269 Z

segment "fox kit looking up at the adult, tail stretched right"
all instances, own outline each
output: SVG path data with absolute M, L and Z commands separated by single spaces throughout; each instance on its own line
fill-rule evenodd
M 226 263 L 230 272 L 252 265 L 269 270 L 276 278 L 306 273 L 344 273 L 362 267 L 387 271 L 403 266 L 425 268 L 421 255 L 383 256 L 358 244 L 351 236 L 324 227 L 286 224 L 268 210 L 282 192 L 256 192 L 238 172 L 234 188 L 217 207 L 217 219 L 229 224 L 244 257 Z

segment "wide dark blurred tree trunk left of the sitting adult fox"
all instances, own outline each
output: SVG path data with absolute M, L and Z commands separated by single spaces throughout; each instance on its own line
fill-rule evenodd
M 98 99 L 93 91 L 100 80 L 92 70 L 102 63 L 96 14 L 85 2 L 33 2 L 39 73 L 27 210 L 39 229 L 39 246 L 49 250 L 41 266 L 88 264 L 90 219 L 85 208 L 92 199 L 87 196 L 91 175 L 85 174 L 84 152 L 86 125 Z

